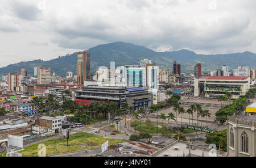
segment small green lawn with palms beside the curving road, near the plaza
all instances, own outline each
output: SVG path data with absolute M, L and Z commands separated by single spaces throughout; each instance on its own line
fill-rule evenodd
M 135 128 L 136 131 L 141 131 L 141 132 L 146 132 L 146 133 L 162 133 L 162 128 L 158 127 L 158 132 L 156 132 L 156 123 L 155 122 L 150 122 L 150 125 L 148 126 L 145 122 L 140 122 L 140 121 L 133 121 L 131 123 L 131 127 L 134 127 L 135 124 L 137 124 L 137 127 Z M 158 122 L 158 125 L 162 127 L 162 122 Z M 151 130 L 153 128 L 153 130 Z M 163 132 L 166 133 L 176 133 L 175 131 L 172 131 L 170 129 L 166 128 L 166 123 L 163 123 Z

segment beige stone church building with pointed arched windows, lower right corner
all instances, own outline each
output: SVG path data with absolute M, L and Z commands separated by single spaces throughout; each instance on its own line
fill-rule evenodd
M 228 116 L 227 151 L 230 157 L 256 156 L 256 115 Z

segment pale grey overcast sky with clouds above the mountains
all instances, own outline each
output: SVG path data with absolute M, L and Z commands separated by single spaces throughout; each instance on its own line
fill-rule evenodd
M 256 53 L 255 0 L 1 0 L 0 67 L 124 41 Z

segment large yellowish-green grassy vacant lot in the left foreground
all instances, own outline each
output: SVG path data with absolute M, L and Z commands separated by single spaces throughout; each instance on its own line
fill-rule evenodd
M 118 139 L 111 139 L 111 138 L 104 138 L 98 135 L 93 135 L 90 133 L 75 133 L 69 136 L 68 146 L 67 146 L 67 139 L 57 138 L 54 140 L 45 141 L 39 144 L 46 145 L 46 155 L 49 154 L 56 154 L 56 153 L 65 153 L 65 152 L 73 152 L 76 150 L 83 150 L 83 149 L 94 149 L 101 147 L 101 144 L 104 142 L 109 141 L 109 145 L 114 145 L 119 142 L 125 142 L 126 140 L 118 140 Z M 25 150 L 22 152 L 22 156 L 38 156 L 38 145 L 31 145 L 24 147 Z M 65 145 L 64 145 L 65 144 Z

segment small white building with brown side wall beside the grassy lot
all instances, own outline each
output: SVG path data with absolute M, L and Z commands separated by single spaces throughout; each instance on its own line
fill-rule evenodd
M 62 128 L 62 119 L 43 116 L 39 118 L 39 126 L 49 128 L 52 132 L 58 133 Z

